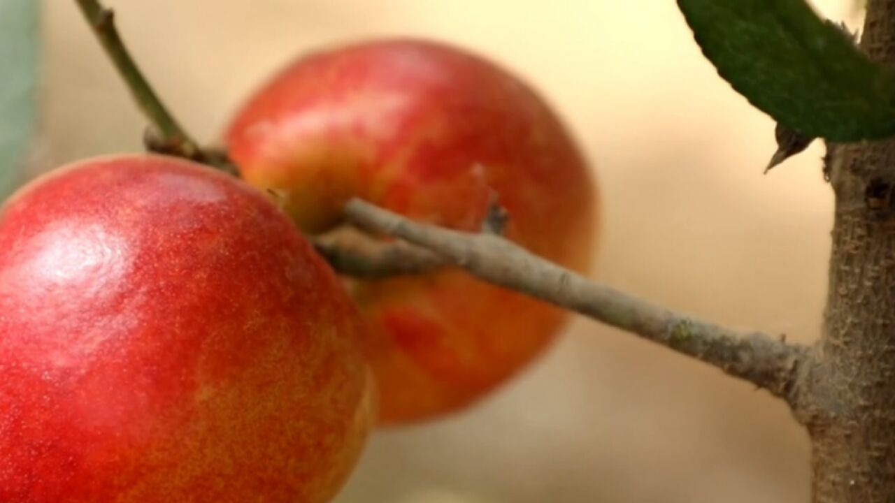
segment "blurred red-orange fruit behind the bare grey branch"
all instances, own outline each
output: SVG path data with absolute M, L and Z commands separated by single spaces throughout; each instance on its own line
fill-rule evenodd
M 303 57 L 243 106 L 226 143 L 243 177 L 309 232 L 337 226 L 351 196 L 475 230 L 493 189 L 510 239 L 579 271 L 592 259 L 597 195 L 569 133 L 523 82 L 455 47 L 392 39 Z M 470 404 L 567 319 L 458 271 L 352 290 L 371 326 L 382 424 Z

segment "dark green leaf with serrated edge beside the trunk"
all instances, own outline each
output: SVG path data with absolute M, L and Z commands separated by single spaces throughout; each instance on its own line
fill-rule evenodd
M 895 72 L 805 0 L 678 0 L 703 54 L 755 107 L 831 141 L 895 134 Z

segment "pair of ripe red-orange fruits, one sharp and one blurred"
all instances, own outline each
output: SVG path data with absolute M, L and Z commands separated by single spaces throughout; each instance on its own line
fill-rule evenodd
M 567 132 L 456 49 L 311 55 L 226 140 L 308 233 L 337 226 L 353 196 L 473 230 L 497 192 L 508 238 L 575 269 L 592 252 L 592 183 Z M 352 300 L 262 191 L 125 156 L 7 201 L 0 501 L 326 501 L 374 402 L 381 424 L 456 410 L 564 319 L 456 270 L 352 280 Z

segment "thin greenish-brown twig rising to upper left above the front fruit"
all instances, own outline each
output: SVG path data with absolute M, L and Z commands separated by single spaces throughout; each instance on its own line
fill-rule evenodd
M 226 156 L 201 149 L 177 123 L 174 115 L 168 112 L 124 46 L 124 41 L 115 28 L 115 14 L 112 10 L 104 7 L 98 0 L 77 0 L 77 2 L 99 44 L 105 49 L 112 64 L 115 65 L 115 70 L 131 90 L 132 97 L 151 124 L 145 139 L 147 148 L 192 159 L 234 175 L 236 173 L 234 165 Z

